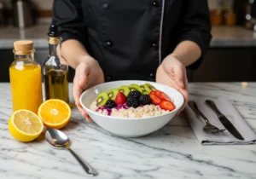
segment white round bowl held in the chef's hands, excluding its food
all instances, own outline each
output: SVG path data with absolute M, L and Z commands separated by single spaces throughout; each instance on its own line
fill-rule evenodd
M 152 84 L 157 90 L 161 90 L 174 100 L 175 110 L 170 113 L 161 114 L 160 116 L 147 117 L 147 118 L 118 118 L 96 113 L 90 110 L 90 104 L 96 100 L 96 96 L 102 91 L 108 91 L 113 88 L 118 88 L 121 85 L 129 84 Z M 108 130 L 117 136 L 124 137 L 138 137 L 146 136 L 155 130 L 159 130 L 166 125 L 175 116 L 178 110 L 183 106 L 183 95 L 177 90 L 164 85 L 148 81 L 125 80 L 114 81 L 104 84 L 96 85 L 80 96 L 80 103 L 85 111 L 89 114 L 90 118 L 101 126 L 104 130 Z

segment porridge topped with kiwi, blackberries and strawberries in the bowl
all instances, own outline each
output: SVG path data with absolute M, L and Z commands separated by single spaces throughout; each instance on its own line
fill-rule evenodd
M 97 95 L 90 110 L 120 118 L 159 116 L 175 109 L 173 101 L 151 84 L 120 86 Z

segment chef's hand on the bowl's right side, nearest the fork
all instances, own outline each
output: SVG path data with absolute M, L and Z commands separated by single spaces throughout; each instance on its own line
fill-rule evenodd
M 183 94 L 185 103 L 177 115 L 183 111 L 189 98 L 188 92 L 188 78 L 186 68 L 177 60 L 175 55 L 168 55 L 162 61 L 156 72 L 156 82 L 172 86 Z

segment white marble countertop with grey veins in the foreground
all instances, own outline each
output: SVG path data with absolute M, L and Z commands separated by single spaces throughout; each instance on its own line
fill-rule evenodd
M 190 95 L 228 96 L 256 132 L 255 91 L 256 83 L 189 84 Z M 29 143 L 15 141 L 8 130 L 9 84 L 0 84 L 0 99 L 1 179 L 92 178 L 66 150 L 49 147 L 44 136 Z M 71 122 L 62 131 L 73 150 L 99 171 L 95 178 L 256 178 L 254 145 L 201 146 L 183 114 L 149 136 L 121 138 L 85 122 L 73 108 Z

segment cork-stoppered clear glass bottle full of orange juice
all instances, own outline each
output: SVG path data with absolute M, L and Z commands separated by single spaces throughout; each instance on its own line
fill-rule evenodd
M 14 43 L 15 61 L 9 66 L 13 110 L 26 109 L 38 113 L 43 102 L 41 66 L 34 61 L 33 42 Z

